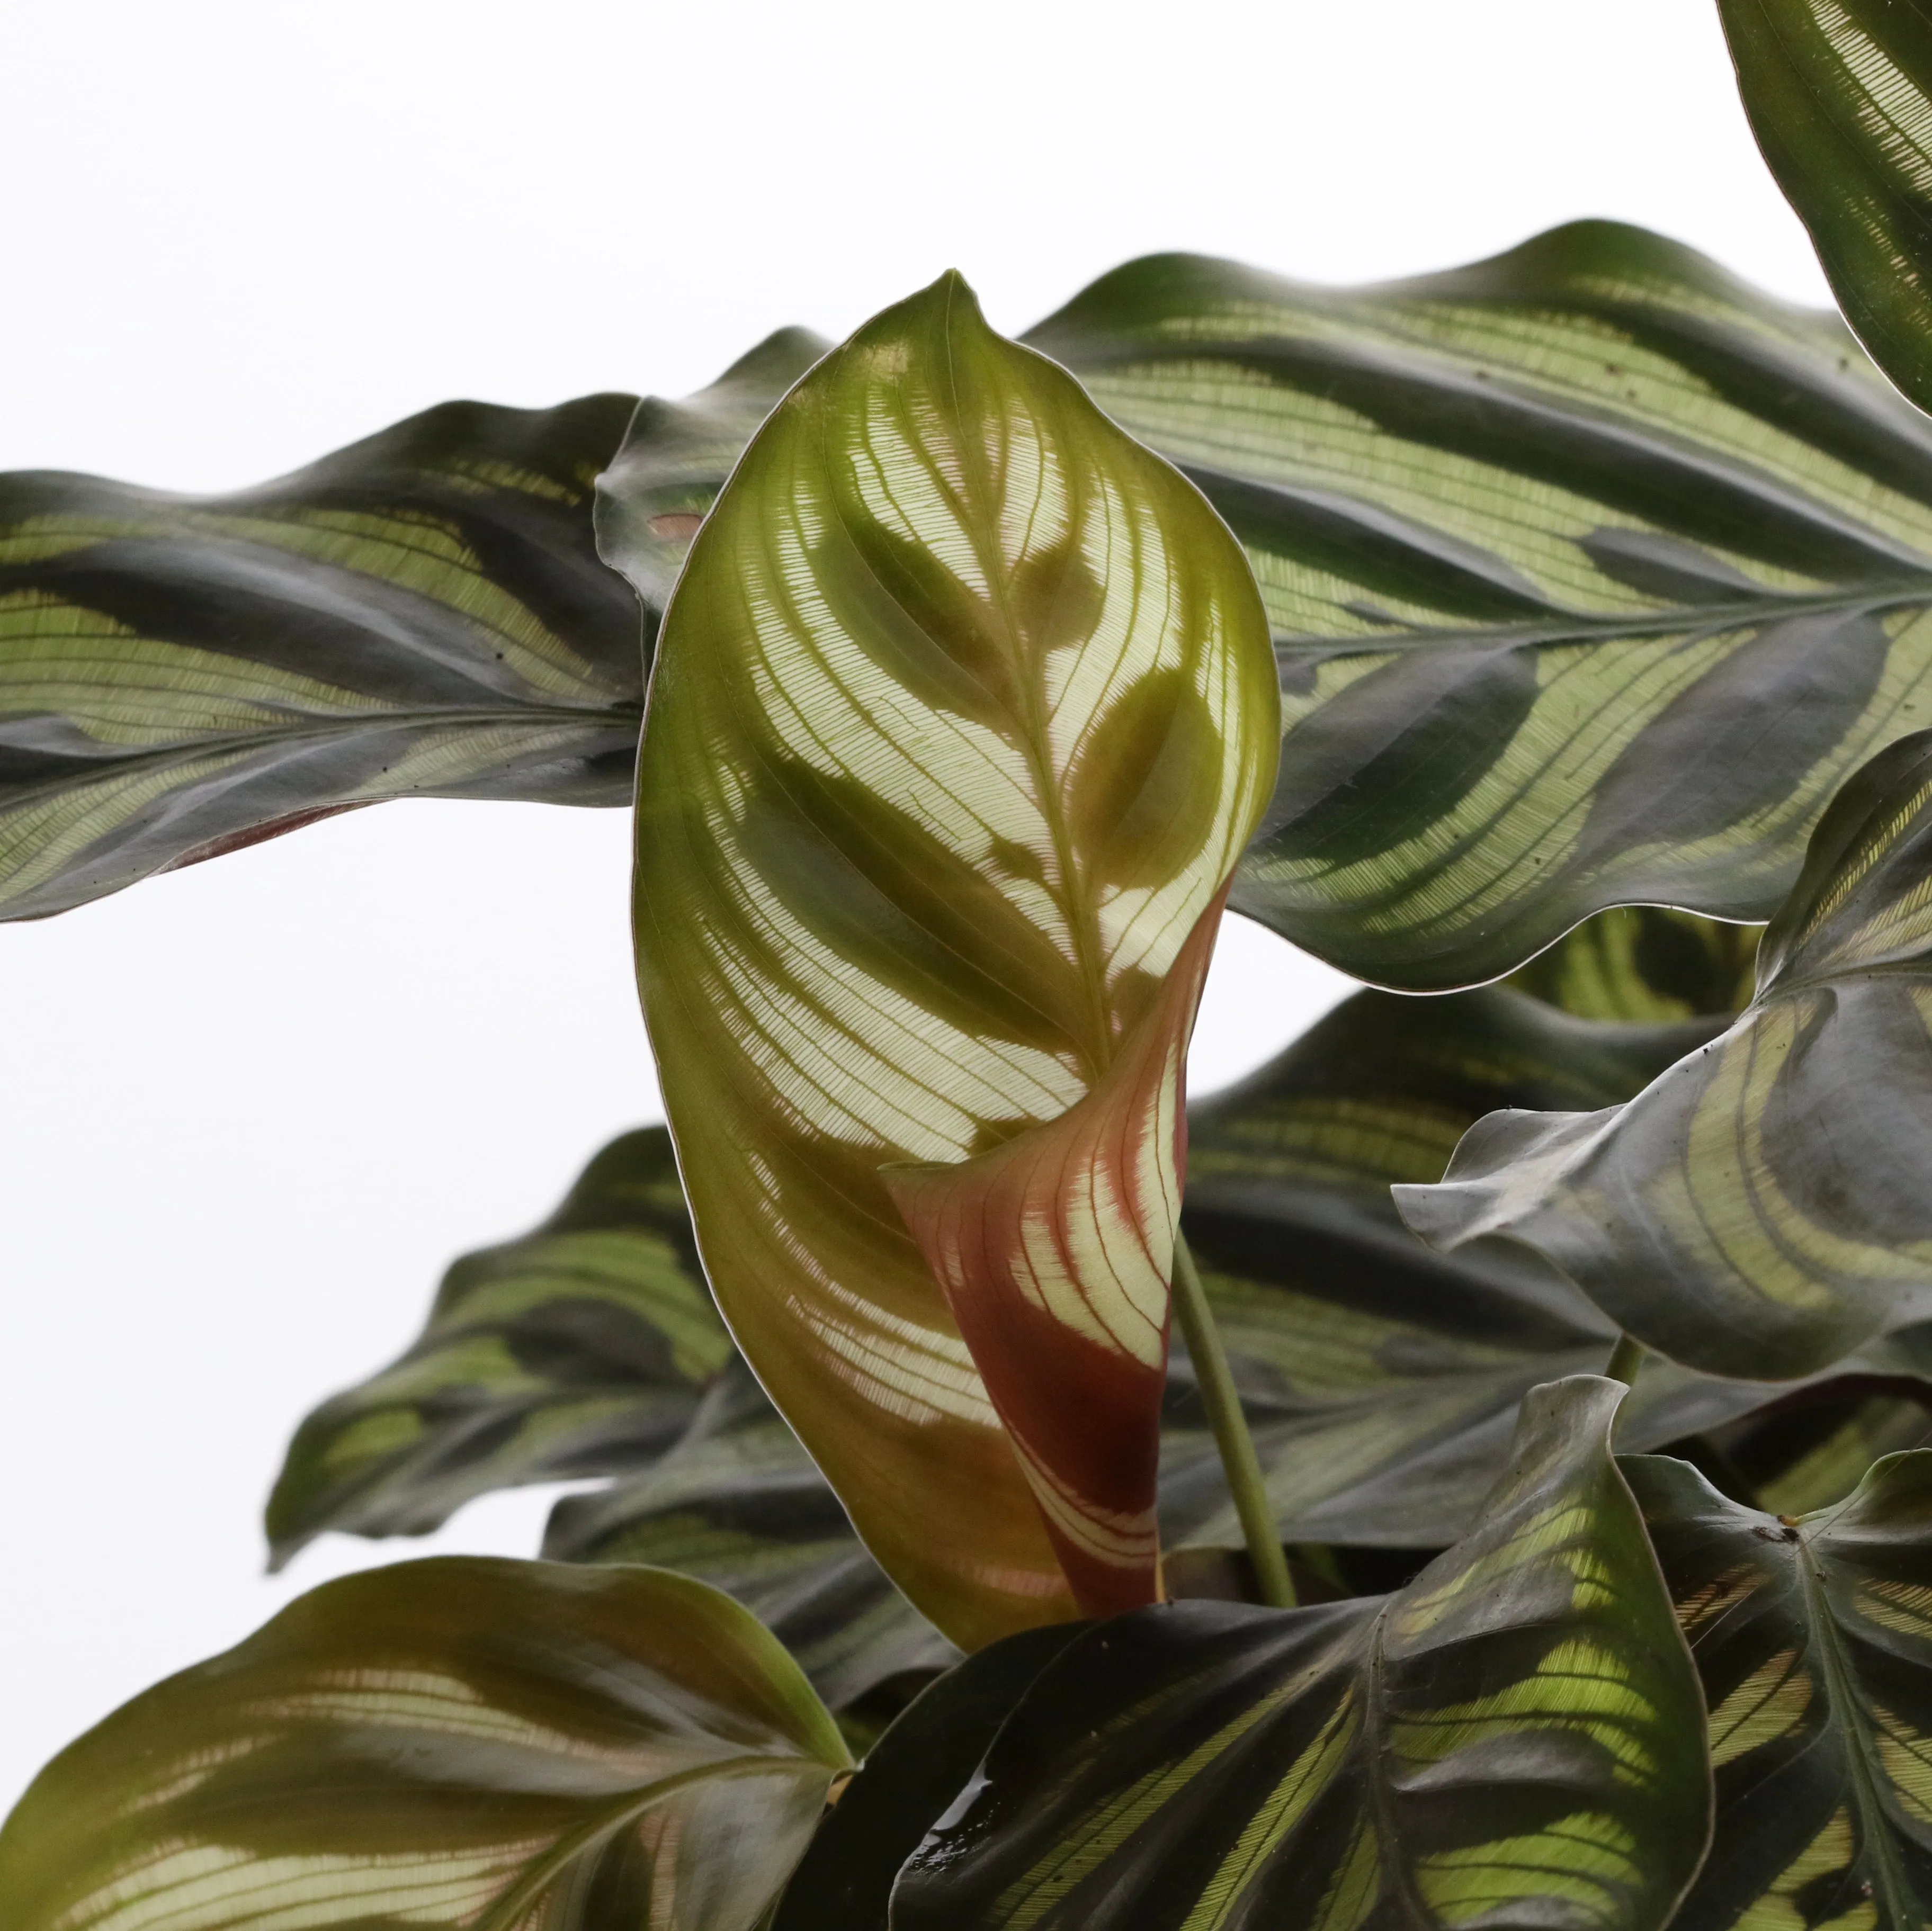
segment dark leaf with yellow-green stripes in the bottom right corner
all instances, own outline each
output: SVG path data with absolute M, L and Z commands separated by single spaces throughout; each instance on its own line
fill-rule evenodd
M 1681 1931 L 1932 1917 L 1932 1454 L 1803 1520 L 1625 1460 L 1710 1703 L 1718 1829 Z

